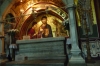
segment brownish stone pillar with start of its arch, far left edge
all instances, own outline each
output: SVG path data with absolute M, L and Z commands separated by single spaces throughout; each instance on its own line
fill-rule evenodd
M 3 12 L 8 11 L 15 0 L 5 0 L 2 5 L 0 5 L 0 22 L 2 22 L 2 15 Z M 12 3 L 12 4 L 11 4 Z M 9 6 L 9 8 L 8 8 Z M 7 9 L 6 9 L 7 8 Z M 3 57 L 5 57 L 5 51 L 4 51 L 4 23 L 0 23 L 0 63 L 5 62 Z

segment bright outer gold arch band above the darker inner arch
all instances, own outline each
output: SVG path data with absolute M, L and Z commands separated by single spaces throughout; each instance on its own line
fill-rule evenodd
M 44 4 L 42 4 L 42 5 L 44 5 Z M 46 8 L 46 7 L 44 7 L 44 8 L 41 8 L 40 10 L 44 9 L 44 12 L 46 12 L 46 13 L 47 13 L 48 11 L 52 11 L 52 12 L 56 13 L 57 15 L 59 15 L 62 19 L 67 19 L 67 18 L 68 18 L 68 14 L 67 14 L 64 10 L 62 10 L 61 8 L 59 8 L 59 7 L 57 7 L 57 6 L 54 6 L 54 5 L 51 5 L 51 4 L 45 4 L 45 5 L 48 6 L 48 9 L 45 10 L 44 8 Z M 38 4 L 38 5 L 36 5 L 36 6 L 40 6 L 40 4 Z M 35 7 L 35 6 L 34 6 L 34 7 Z M 34 8 L 34 7 L 33 7 L 33 9 L 35 9 L 35 10 L 38 9 L 38 7 L 37 7 L 37 8 L 36 8 L 36 7 Z M 35 10 L 34 10 L 34 11 L 35 11 Z M 31 7 L 29 7 L 28 10 L 26 10 L 25 12 L 23 12 L 23 13 L 21 14 L 21 18 L 20 18 L 20 20 L 19 20 L 19 22 L 18 22 L 16 28 L 18 28 L 18 29 L 20 30 L 21 27 L 23 26 L 23 23 L 25 22 L 25 20 L 26 20 L 30 15 L 35 16 L 35 15 L 41 13 L 41 11 L 40 11 L 40 12 L 37 12 L 37 13 L 35 13 L 34 11 L 32 10 Z M 42 11 L 42 12 L 43 12 L 43 11 Z M 36 17 L 36 16 L 35 16 L 35 17 Z

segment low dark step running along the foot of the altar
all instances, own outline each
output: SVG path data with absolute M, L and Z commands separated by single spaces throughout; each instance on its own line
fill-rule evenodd
M 64 64 L 65 62 L 65 59 L 55 59 L 55 60 L 52 60 L 52 59 L 47 59 L 47 60 L 43 60 L 43 59 L 40 59 L 40 60 L 24 60 L 24 61 L 12 61 L 12 62 L 8 62 L 6 64 L 16 64 L 16 65 L 19 65 L 19 64 Z

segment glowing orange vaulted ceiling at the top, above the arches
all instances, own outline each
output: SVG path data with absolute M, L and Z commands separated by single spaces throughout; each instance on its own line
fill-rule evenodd
M 45 5 L 48 3 L 51 5 L 55 5 L 57 7 L 64 7 L 62 0 L 22 0 L 22 2 L 20 1 L 21 0 L 15 0 L 15 3 L 12 5 L 12 8 L 11 8 L 12 11 L 15 12 L 15 14 L 17 14 L 17 16 L 20 15 L 20 9 L 23 9 L 23 11 L 26 11 L 29 7 L 34 7 L 37 4 Z

